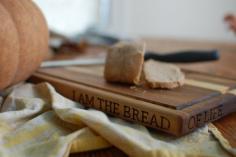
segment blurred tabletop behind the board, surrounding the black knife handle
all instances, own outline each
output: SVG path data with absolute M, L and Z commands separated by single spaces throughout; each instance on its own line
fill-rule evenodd
M 220 60 L 200 63 L 178 64 L 181 68 L 236 79 L 236 43 L 212 42 L 212 41 L 190 41 L 177 39 L 143 39 L 147 43 L 147 49 L 158 53 L 169 53 L 181 50 L 212 50 L 217 49 Z

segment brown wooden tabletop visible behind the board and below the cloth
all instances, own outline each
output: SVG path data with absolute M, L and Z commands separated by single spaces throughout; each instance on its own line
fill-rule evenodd
M 218 49 L 221 58 L 219 61 L 179 64 L 181 68 L 226 77 L 236 81 L 236 42 L 208 42 L 208 41 L 180 41 L 171 39 L 144 39 L 147 43 L 147 49 L 157 52 L 172 52 L 178 50 L 189 49 Z M 90 49 L 89 52 L 98 51 Z M 60 58 L 60 57 L 59 57 Z M 65 58 L 65 56 L 63 56 Z M 236 102 L 235 102 L 236 105 Z M 236 148 L 236 112 L 214 122 L 215 126 L 220 130 L 223 136 L 230 142 L 231 146 Z M 92 152 L 84 152 L 71 154 L 70 157 L 125 157 L 122 151 L 115 147 L 97 150 Z

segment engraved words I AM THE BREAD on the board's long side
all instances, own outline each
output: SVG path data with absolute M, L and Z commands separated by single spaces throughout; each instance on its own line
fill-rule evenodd
M 171 127 L 171 121 L 168 117 L 160 115 L 157 112 L 141 110 L 99 96 L 73 91 L 73 100 L 85 105 L 86 107 L 95 108 L 108 114 L 123 117 L 127 120 L 146 124 L 154 128 L 169 130 Z

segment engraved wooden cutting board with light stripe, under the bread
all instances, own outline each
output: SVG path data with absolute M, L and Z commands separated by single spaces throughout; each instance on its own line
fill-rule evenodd
M 236 81 L 184 71 L 172 90 L 108 83 L 103 65 L 39 69 L 33 83 L 49 82 L 67 98 L 109 115 L 181 136 L 236 111 Z

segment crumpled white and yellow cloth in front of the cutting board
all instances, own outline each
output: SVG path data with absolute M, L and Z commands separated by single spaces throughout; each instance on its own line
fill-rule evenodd
M 175 138 L 85 110 L 47 83 L 20 85 L 0 104 L 0 157 L 67 157 L 112 145 L 134 157 L 236 155 L 212 124 Z

